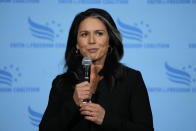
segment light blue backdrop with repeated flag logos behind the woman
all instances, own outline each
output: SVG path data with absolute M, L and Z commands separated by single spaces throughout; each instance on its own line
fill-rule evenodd
M 72 20 L 90 7 L 114 18 L 155 130 L 196 131 L 196 0 L 0 0 L 0 130 L 38 130 Z

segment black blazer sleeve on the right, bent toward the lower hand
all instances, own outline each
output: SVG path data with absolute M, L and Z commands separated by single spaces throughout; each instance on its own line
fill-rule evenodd
M 130 118 L 122 119 L 106 111 L 102 127 L 109 130 L 154 131 L 148 92 L 142 75 L 136 71 L 135 78 L 133 74 L 129 75 L 130 78 L 135 81 L 135 84 L 130 84 Z

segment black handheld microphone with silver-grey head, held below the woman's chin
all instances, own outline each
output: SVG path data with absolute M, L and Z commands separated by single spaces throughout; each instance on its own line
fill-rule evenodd
M 82 59 L 83 66 L 83 80 L 90 83 L 90 71 L 91 71 L 92 59 L 89 57 L 84 57 Z M 83 103 L 89 102 L 89 99 L 84 99 Z

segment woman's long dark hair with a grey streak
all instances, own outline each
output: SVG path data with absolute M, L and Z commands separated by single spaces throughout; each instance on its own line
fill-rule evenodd
M 109 35 L 110 48 L 108 49 L 103 72 L 107 70 L 107 73 L 111 72 L 112 74 L 118 74 L 118 72 L 120 72 L 118 70 L 118 63 L 124 53 L 121 35 L 110 14 L 103 9 L 97 8 L 90 8 L 75 16 L 67 40 L 67 48 L 65 52 L 65 67 L 67 67 L 68 70 L 75 71 L 77 70 L 78 66 L 81 65 L 82 56 L 81 54 L 76 53 L 77 34 L 80 23 L 87 17 L 98 18 L 106 26 Z

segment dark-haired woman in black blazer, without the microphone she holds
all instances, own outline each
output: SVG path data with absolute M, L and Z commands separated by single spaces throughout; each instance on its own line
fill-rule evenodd
M 52 83 L 39 130 L 153 131 L 142 76 L 119 63 L 122 56 L 121 36 L 108 13 L 95 8 L 79 13 L 67 41 L 67 71 Z M 90 83 L 82 79 L 83 57 L 93 61 Z

